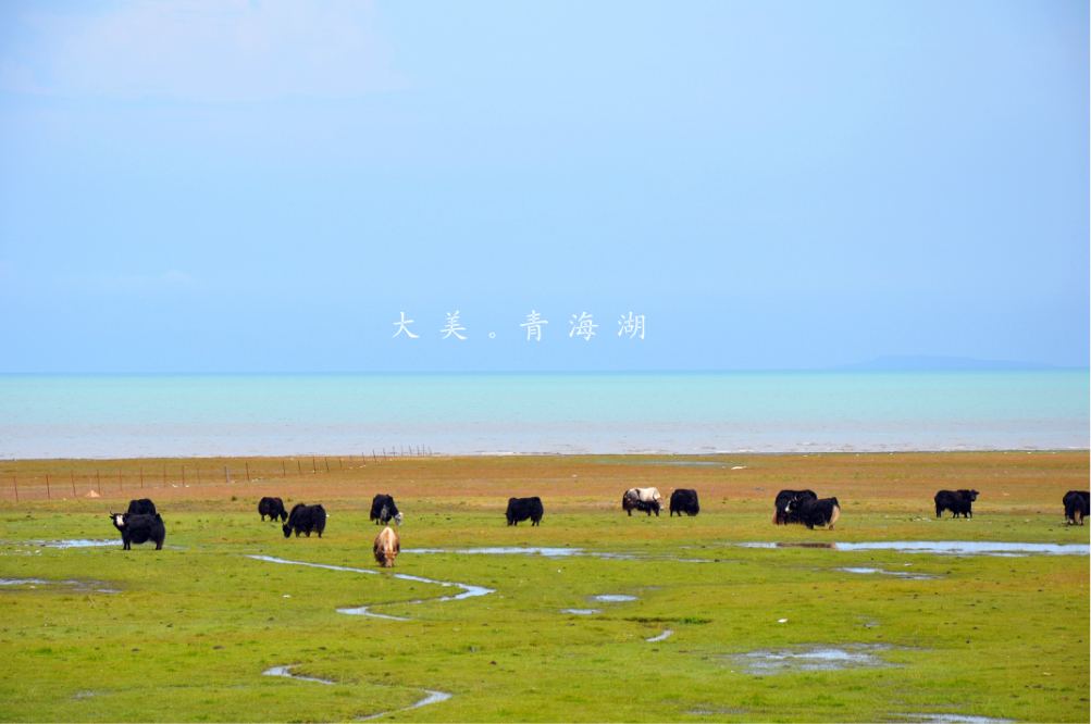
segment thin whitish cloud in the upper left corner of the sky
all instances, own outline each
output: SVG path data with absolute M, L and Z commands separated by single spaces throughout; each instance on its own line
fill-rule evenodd
M 21 20 L 37 39 L 0 58 L 7 90 L 227 102 L 408 86 L 374 1 L 136 0 Z

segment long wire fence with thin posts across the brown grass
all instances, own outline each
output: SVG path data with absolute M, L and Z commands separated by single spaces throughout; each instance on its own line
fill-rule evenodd
M 74 497 L 101 497 L 115 493 L 137 493 L 164 487 L 202 487 L 256 483 L 262 481 L 299 481 L 311 475 L 345 473 L 365 464 L 377 464 L 400 458 L 434 457 L 424 445 L 377 448 L 371 455 L 347 457 L 309 456 L 293 458 L 260 458 L 230 460 L 191 460 L 163 464 L 137 464 L 132 461 L 119 468 L 81 466 L 76 471 L 5 472 L 0 475 L 0 502 L 52 500 Z

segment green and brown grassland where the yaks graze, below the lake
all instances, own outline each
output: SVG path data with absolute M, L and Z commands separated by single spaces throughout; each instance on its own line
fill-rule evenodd
M 1088 721 L 1087 556 L 738 545 L 1087 544 L 1091 527 L 1066 527 L 1060 508 L 1066 491 L 1087 487 L 1087 452 L 730 456 L 673 464 L 680 461 L 405 458 L 361 466 L 356 458 L 349 466 L 346 458 L 326 472 L 320 458 L 308 466 L 314 472 L 298 464 L 296 474 L 287 468 L 297 461 L 287 458 L 0 463 L 0 578 L 53 581 L 0 587 L 0 721 L 332 721 L 379 712 L 393 712 L 387 721 L 898 721 L 927 713 Z M 224 483 L 225 464 L 236 482 Z M 237 472 L 245 464 L 249 485 Z M 166 480 L 146 472 L 164 466 Z M 197 466 L 209 471 L 201 484 Z M 143 494 L 133 483 L 141 468 Z M 96 469 L 103 497 L 87 499 Z M 115 486 L 103 472 L 119 469 Z M 58 486 L 53 499 L 43 499 L 46 474 L 75 480 L 77 497 Z M 11 475 L 24 495 L 19 504 Z M 628 518 L 620 498 L 633 485 L 664 494 L 695 487 L 702 514 Z M 843 509 L 837 530 L 772 527 L 770 502 L 782 487 L 836 495 Z M 935 520 L 935 491 L 961 487 L 981 491 L 974 518 Z M 377 492 L 393 494 L 406 512 L 406 550 L 570 546 L 632 557 L 398 557 L 396 574 L 494 590 L 446 602 L 436 599 L 449 588 L 388 574 L 247 557 L 379 570 L 368 521 Z M 332 514 L 326 535 L 284 539 L 278 526 L 257 520 L 264 494 L 322 502 Z M 38 545 L 116 539 L 106 511 L 139 495 L 164 514 L 164 551 Z M 512 495 L 542 497 L 540 528 L 506 527 Z M 850 567 L 924 578 L 842 570 Z M 636 600 L 594 601 L 603 593 Z M 335 612 L 359 605 L 409 620 Z M 646 641 L 664 628 L 670 638 Z M 746 655 L 814 645 L 870 653 L 882 665 L 770 674 Z M 286 664 L 336 684 L 262 675 Z M 454 696 L 396 711 L 422 689 Z

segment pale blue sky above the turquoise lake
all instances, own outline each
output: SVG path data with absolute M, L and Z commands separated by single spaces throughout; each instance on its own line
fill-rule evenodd
M 1087 2 L 0 3 L 0 373 L 1086 367 L 1089 65 Z

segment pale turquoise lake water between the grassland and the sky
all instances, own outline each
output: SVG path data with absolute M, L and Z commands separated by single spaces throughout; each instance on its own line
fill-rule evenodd
M 0 375 L 0 457 L 1087 449 L 1086 370 Z

